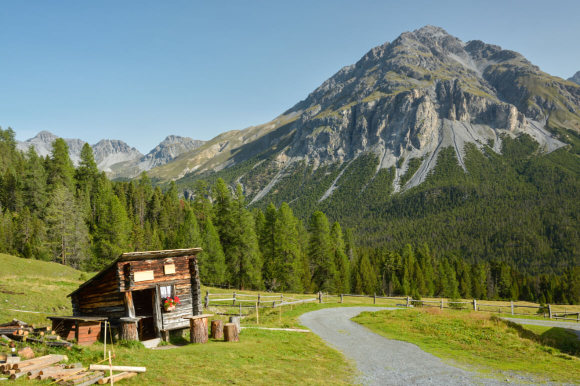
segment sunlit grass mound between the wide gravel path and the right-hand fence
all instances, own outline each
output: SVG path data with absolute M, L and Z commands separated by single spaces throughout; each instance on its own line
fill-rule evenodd
M 516 372 L 533 374 L 535 380 L 580 382 L 580 343 L 563 329 L 530 329 L 481 312 L 437 308 L 362 312 L 353 321 L 483 373 Z

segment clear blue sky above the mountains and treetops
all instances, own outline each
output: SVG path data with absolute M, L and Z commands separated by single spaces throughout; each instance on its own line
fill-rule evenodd
M 374 46 L 426 24 L 580 70 L 580 2 L 0 2 L 0 126 L 144 154 L 270 121 Z

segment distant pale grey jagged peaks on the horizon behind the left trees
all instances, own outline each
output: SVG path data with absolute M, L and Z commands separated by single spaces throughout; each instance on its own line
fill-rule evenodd
M 34 138 L 17 143 L 16 147 L 26 151 L 34 145 L 35 151 L 46 156 L 50 154 L 52 143 L 58 137 L 50 132 L 42 131 Z M 70 158 L 75 165 L 79 161 L 79 154 L 85 141 L 81 139 L 64 139 L 68 145 Z M 121 140 L 100 140 L 91 145 L 97 167 L 108 174 L 111 179 L 117 177 L 136 177 L 144 170 L 164 165 L 176 156 L 200 147 L 204 141 L 194 140 L 189 137 L 171 135 L 165 138 L 153 150 L 146 155 L 139 150 L 130 147 Z

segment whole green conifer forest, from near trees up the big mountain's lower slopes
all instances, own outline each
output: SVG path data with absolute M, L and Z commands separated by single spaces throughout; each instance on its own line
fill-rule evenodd
M 392 196 L 389 169 L 367 180 L 372 156 L 314 172 L 305 166 L 281 184 L 300 193 L 297 217 L 279 199 L 284 190 L 252 210 L 241 185 L 231 191 L 221 178 L 198 180 L 191 199 L 180 198 L 175 184 L 162 191 L 146 174 L 109 181 L 88 145 L 76 169 L 63 140 L 46 158 L 24 154 L 9 128 L 0 131 L 0 252 L 100 270 L 123 252 L 201 246 L 205 283 L 579 303 L 578 241 L 568 237 L 578 229 L 577 155 L 530 157 L 535 146 L 521 137 L 506 140 L 503 155 L 469 152 L 467 173 L 444 152 L 425 184 Z M 325 189 L 305 188 L 342 170 L 332 199 L 318 202 Z M 477 258 L 482 251 L 489 260 Z M 522 264 L 530 258 L 536 263 Z

